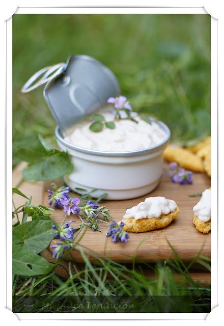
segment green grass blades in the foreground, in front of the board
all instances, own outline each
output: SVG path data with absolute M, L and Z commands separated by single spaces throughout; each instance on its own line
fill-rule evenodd
M 34 302 L 32 312 L 210 312 L 210 285 L 192 280 L 191 264 L 184 264 L 173 251 L 172 261 L 155 265 L 136 262 L 132 266 L 102 256 L 96 258 L 96 253 L 92 254 L 96 258 L 92 264 L 82 251 L 85 268 L 72 274 L 70 263 L 66 281 L 54 273 L 36 278 L 16 277 L 13 311 L 26 312 L 24 298 L 29 296 Z M 199 255 L 195 262 L 210 269 L 206 257 Z M 151 269 L 154 278 L 147 278 L 143 268 Z M 174 278 L 174 271 L 179 273 L 180 281 Z M 121 302 L 132 306 L 128 310 L 100 306 Z M 79 309 L 73 308 L 79 304 Z

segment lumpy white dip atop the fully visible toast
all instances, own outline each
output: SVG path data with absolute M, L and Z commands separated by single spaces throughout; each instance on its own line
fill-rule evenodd
M 173 212 L 177 207 L 175 201 L 165 197 L 148 197 L 145 202 L 139 203 L 126 210 L 124 219 L 139 220 L 159 218 L 163 214 Z

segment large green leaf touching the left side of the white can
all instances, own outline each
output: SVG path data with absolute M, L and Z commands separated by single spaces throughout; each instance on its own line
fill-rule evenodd
M 27 180 L 45 181 L 58 179 L 73 171 L 74 167 L 67 152 L 55 150 L 55 154 L 30 163 L 22 170 Z

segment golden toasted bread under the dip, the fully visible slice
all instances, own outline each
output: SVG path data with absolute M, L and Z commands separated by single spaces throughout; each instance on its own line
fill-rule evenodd
M 177 206 L 173 212 L 166 215 L 163 214 L 159 218 L 139 220 L 123 219 L 123 230 L 127 232 L 139 233 L 165 228 L 167 225 L 171 224 L 171 222 L 177 217 L 179 211 L 179 207 Z

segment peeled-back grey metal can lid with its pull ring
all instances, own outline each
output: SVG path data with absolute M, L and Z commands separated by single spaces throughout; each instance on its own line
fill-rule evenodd
M 40 79 L 34 84 L 37 78 Z M 44 98 L 63 136 L 81 118 L 103 107 L 109 97 L 120 94 L 114 73 L 98 60 L 84 55 L 70 56 L 66 63 L 39 70 L 21 92 L 30 92 L 43 84 L 46 84 Z

